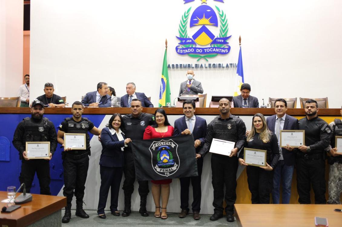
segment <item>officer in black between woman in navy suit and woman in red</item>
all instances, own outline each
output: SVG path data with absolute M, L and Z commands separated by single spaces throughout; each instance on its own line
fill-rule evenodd
M 131 140 L 142 140 L 144 137 L 145 128 L 153 124 L 154 116 L 149 113 L 142 113 L 143 110 L 141 101 L 139 99 L 133 99 L 131 102 L 131 114 L 124 115 L 123 124 L 125 129 L 126 138 Z M 128 147 L 124 148 L 125 164 L 123 173 L 125 175 L 125 180 L 123 182 L 123 192 L 124 192 L 124 211 L 122 212 L 123 217 L 127 217 L 131 213 L 131 196 L 134 191 L 134 181 L 135 181 L 135 169 L 134 169 L 134 158 L 132 153 L 131 143 Z M 146 211 L 146 199 L 148 190 L 148 181 L 138 181 L 139 183 L 139 195 L 140 195 L 140 209 L 139 213 L 141 216 L 148 216 Z

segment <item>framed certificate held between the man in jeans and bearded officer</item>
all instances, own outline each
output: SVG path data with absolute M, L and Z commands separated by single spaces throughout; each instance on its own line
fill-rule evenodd
M 305 130 L 280 130 L 279 140 L 280 147 L 300 147 L 305 145 Z

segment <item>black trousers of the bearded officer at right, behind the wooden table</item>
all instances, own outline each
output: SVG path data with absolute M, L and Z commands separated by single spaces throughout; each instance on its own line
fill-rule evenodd
M 297 159 L 297 190 L 300 204 L 310 204 L 310 189 L 314 189 L 315 204 L 326 204 L 325 160 Z

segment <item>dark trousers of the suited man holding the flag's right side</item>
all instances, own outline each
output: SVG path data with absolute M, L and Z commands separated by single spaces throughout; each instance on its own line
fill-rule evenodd
M 201 210 L 201 175 L 202 175 L 202 168 L 203 168 L 203 158 L 197 159 L 197 171 L 198 176 L 191 176 L 187 178 L 180 178 L 181 182 L 181 209 L 185 209 L 189 211 L 189 185 L 190 180 L 193 186 L 193 196 L 194 201 L 192 203 L 192 210 L 193 211 L 200 211 Z

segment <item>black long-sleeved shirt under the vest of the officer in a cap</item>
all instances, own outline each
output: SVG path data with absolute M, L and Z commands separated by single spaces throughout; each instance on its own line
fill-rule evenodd
M 40 124 L 43 121 L 43 119 L 44 117 L 41 120 L 36 120 L 31 117 L 31 122 L 34 124 Z M 47 126 L 49 128 L 48 130 L 49 139 L 47 141 L 50 141 L 50 153 L 53 154 L 57 147 L 56 129 L 50 120 L 48 121 Z M 24 134 L 25 134 L 25 120 L 22 120 L 14 131 L 14 136 L 13 136 L 13 141 L 12 141 L 14 147 L 19 151 L 21 155 L 20 157 L 22 157 L 23 152 L 26 149 L 26 138 L 24 138 Z

